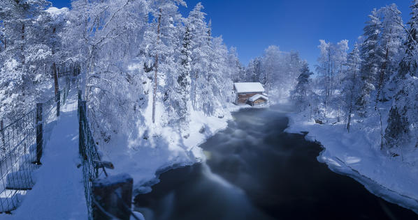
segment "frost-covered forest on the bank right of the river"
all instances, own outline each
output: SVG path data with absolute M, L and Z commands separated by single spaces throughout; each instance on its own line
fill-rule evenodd
M 417 148 L 418 1 L 410 8 L 407 24 L 395 4 L 374 9 L 350 52 L 347 40 L 320 40 L 317 74 L 303 68 L 291 93 L 298 109 L 317 123 L 336 118 L 347 132 L 354 122 L 377 129 L 380 148 L 393 156 Z

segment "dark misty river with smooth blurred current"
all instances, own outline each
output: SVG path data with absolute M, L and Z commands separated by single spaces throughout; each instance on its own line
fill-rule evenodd
M 201 145 L 206 163 L 163 173 L 151 193 L 136 196 L 145 219 L 418 219 L 319 163 L 318 143 L 284 132 L 284 112 L 233 116 Z

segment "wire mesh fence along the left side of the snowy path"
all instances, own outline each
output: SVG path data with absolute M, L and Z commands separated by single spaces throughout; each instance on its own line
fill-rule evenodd
M 21 196 L 31 189 L 33 171 L 41 166 L 45 140 L 66 102 L 70 81 L 50 100 L 36 104 L 13 123 L 0 127 L 0 212 L 15 210 Z

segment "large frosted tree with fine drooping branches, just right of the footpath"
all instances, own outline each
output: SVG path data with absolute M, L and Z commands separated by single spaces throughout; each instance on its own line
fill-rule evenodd
M 89 118 L 98 140 L 143 120 L 147 106 L 140 50 L 147 28 L 146 1 L 72 1 L 63 35 L 66 61 L 80 65 Z M 137 55 L 139 57 L 137 57 Z M 142 65 L 138 64 L 142 63 Z

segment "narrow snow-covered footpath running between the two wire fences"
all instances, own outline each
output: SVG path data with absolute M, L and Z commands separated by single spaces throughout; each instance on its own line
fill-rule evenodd
M 12 214 L 0 219 L 87 219 L 87 207 L 78 157 L 78 116 L 75 91 L 62 107 L 41 159 L 34 172 L 36 184 L 27 191 Z

